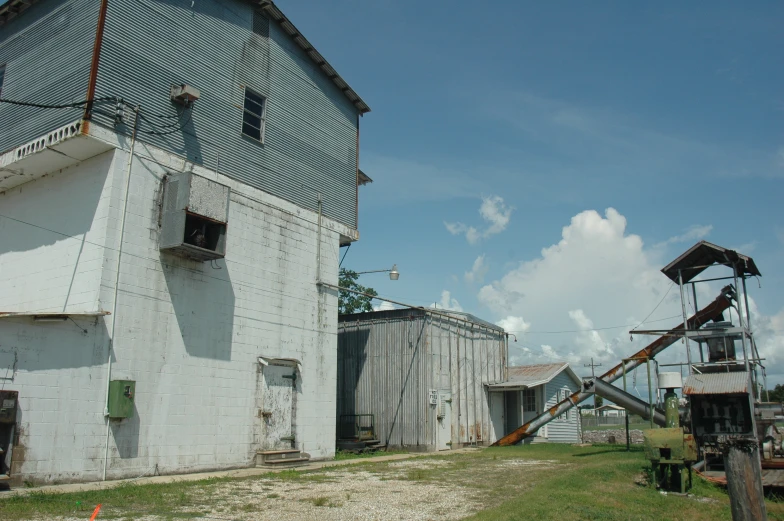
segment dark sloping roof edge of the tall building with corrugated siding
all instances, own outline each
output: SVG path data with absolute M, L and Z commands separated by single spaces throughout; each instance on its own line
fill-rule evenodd
M 286 34 L 294 40 L 300 49 L 302 49 L 308 58 L 313 61 L 313 63 L 321 69 L 321 71 L 327 75 L 327 77 L 332 80 L 338 89 L 346 96 L 351 103 L 353 103 L 354 107 L 357 108 L 360 114 L 365 114 L 366 112 L 370 112 L 370 107 L 362 101 L 362 98 L 359 97 L 359 94 L 354 92 L 346 81 L 340 77 L 340 75 L 332 68 L 332 66 L 327 62 L 327 60 L 321 55 L 320 52 L 316 50 L 315 47 L 299 32 L 299 30 L 294 27 L 294 24 L 286 18 L 286 15 L 275 5 L 274 2 L 271 0 L 247 0 L 251 4 L 258 5 L 260 9 L 262 9 L 267 16 L 269 16 L 272 20 L 278 23 Z M 36 0 L 8 0 L 3 3 L 3 0 L 0 0 L 0 25 L 5 24 L 12 18 L 18 16 L 22 11 L 30 7 L 36 2 Z

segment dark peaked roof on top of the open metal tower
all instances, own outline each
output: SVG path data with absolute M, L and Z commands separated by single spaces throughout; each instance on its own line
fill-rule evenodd
M 662 273 L 677 284 L 678 272 L 680 271 L 683 275 L 683 282 L 686 283 L 714 265 L 730 268 L 735 266 L 738 269 L 738 275 L 762 275 L 751 257 L 708 241 L 700 241 L 686 250 L 680 257 L 662 268 Z

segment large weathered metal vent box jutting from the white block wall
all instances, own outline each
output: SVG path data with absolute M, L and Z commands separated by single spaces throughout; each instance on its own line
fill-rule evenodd
M 192 172 L 167 176 L 161 208 L 161 251 L 194 260 L 226 256 L 228 186 Z

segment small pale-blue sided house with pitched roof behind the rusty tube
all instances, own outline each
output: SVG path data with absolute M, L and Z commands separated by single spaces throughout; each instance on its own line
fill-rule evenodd
M 508 434 L 545 410 L 566 399 L 581 386 L 566 362 L 510 366 L 506 381 L 488 385 L 489 392 L 503 393 L 504 425 Z M 539 429 L 525 443 L 578 443 L 580 418 L 576 408 Z

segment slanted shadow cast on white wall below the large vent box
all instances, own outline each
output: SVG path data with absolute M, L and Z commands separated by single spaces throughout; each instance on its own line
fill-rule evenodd
M 160 258 L 185 351 L 231 360 L 235 297 L 226 262 L 192 261 L 168 253 Z

